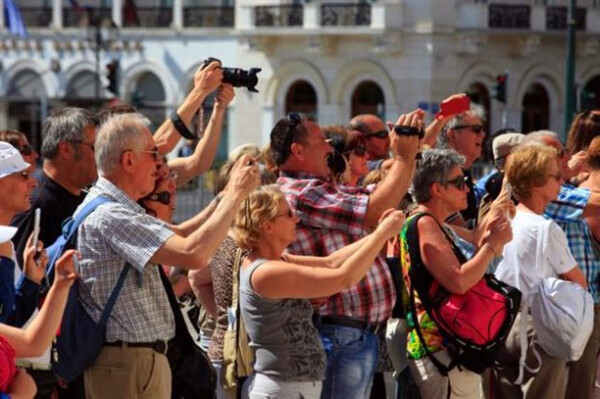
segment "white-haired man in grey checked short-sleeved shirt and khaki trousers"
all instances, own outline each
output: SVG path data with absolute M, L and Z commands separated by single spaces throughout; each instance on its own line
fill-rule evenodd
M 204 223 L 196 216 L 175 227 L 150 217 L 136 203 L 153 190 L 161 162 L 147 126 L 139 114 L 117 115 L 102 125 L 95 143 L 99 179 L 75 212 L 98 196 L 110 199 L 84 220 L 77 236 L 80 300 L 94 320 L 125 265 L 132 268 L 108 319 L 105 345 L 84 373 L 88 398 L 170 397 L 165 347 L 175 322 L 156 265 L 205 266 L 259 181 L 255 163 L 242 157 Z

